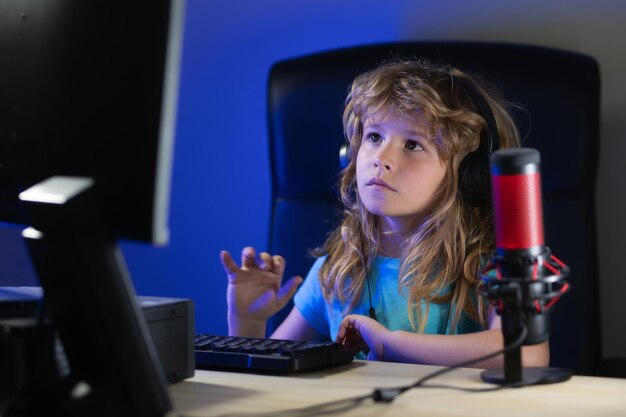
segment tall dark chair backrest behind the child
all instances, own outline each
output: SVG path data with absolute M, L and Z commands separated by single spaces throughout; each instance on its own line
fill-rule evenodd
M 594 207 L 600 81 L 589 56 L 506 43 L 410 42 L 276 63 L 268 91 L 269 247 L 286 258 L 286 276 L 307 273 L 313 262 L 308 250 L 337 224 L 338 150 L 345 141 L 341 114 L 350 83 L 394 55 L 424 57 L 478 75 L 526 109 L 514 117 L 522 146 L 541 153 L 546 244 L 571 268 L 571 291 L 550 317 L 551 364 L 593 374 L 601 354 Z

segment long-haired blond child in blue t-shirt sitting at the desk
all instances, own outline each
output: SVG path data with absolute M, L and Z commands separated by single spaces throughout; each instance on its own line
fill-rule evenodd
M 344 217 L 272 338 L 337 340 L 369 359 L 432 365 L 502 348 L 500 318 L 477 291 L 495 249 L 490 195 L 470 201 L 459 187 L 461 161 L 493 140 L 473 91 L 493 113 L 499 148 L 517 146 L 504 106 L 457 69 L 397 61 L 354 80 L 343 115 Z M 281 286 L 285 260 L 255 255 L 244 248 L 239 267 L 220 254 L 231 335 L 264 337 L 267 319 L 303 282 Z M 522 349 L 524 366 L 548 359 L 547 342 Z

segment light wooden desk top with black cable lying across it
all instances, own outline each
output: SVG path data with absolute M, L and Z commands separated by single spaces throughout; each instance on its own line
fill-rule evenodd
M 336 369 L 274 376 L 196 371 L 171 387 L 174 416 L 256 416 L 367 394 L 373 388 L 410 384 L 434 366 L 355 361 Z M 490 387 L 480 371 L 457 369 L 427 384 Z M 293 413 L 289 415 L 301 415 Z M 314 415 L 314 414 L 307 414 Z M 626 416 L 626 379 L 575 376 L 567 382 L 470 393 L 417 388 L 390 404 L 366 400 L 331 416 Z

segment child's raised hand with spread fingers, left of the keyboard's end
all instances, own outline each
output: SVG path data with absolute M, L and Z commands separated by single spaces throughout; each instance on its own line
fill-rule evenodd
M 270 256 L 263 252 L 260 261 L 255 251 L 246 247 L 241 251 L 241 268 L 226 251 L 220 252 L 220 260 L 228 276 L 228 314 L 230 320 L 263 322 L 287 304 L 302 283 L 301 277 L 293 277 L 281 287 L 285 272 L 282 256 Z

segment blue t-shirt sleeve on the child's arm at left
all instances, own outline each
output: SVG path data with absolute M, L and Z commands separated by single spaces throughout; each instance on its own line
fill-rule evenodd
M 328 308 L 318 278 L 319 270 L 325 260 L 326 257 L 321 257 L 315 261 L 298 289 L 293 302 L 311 327 L 318 333 L 330 337 Z

